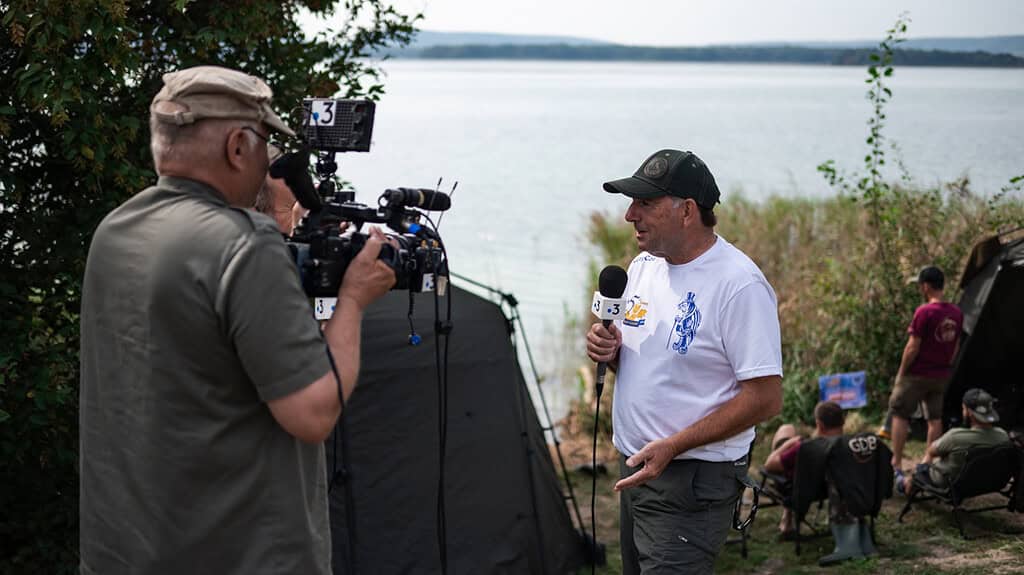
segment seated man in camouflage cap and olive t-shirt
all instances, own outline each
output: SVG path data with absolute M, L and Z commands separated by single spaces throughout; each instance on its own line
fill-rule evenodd
M 1007 432 L 992 425 L 999 421 L 999 414 L 992 407 L 994 402 L 995 399 L 985 390 L 967 390 L 962 408 L 964 421 L 970 422 L 970 429 L 951 429 L 929 445 L 913 477 L 936 487 L 946 487 L 964 467 L 968 448 L 1009 444 Z M 913 478 L 900 478 L 897 474 L 897 480 L 900 479 L 902 481 L 897 483 L 897 490 L 909 493 Z

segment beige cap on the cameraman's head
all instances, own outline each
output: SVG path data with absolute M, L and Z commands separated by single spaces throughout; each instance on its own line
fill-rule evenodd
M 194 124 L 207 119 L 253 120 L 269 129 L 295 136 L 270 108 L 273 92 L 255 76 L 216 65 L 199 65 L 164 75 L 164 87 L 153 98 L 150 114 L 167 124 Z M 184 110 L 158 112 L 160 102 L 174 102 Z

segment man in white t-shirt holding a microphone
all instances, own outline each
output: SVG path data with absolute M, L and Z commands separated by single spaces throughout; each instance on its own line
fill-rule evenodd
M 587 335 L 616 368 L 623 573 L 712 573 L 746 474 L 754 426 L 782 406 L 775 292 L 715 233 L 719 190 L 689 151 L 663 149 L 604 189 L 633 200 L 622 321 Z

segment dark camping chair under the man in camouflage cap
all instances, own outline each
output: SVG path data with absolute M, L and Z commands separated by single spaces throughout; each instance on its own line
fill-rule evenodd
M 1018 507 L 1015 483 L 1022 480 L 1019 457 L 1019 450 L 1012 444 L 970 447 L 967 449 L 964 467 L 947 487 L 934 485 L 914 474 L 906 504 L 897 521 L 902 523 L 903 516 L 910 512 L 913 503 L 937 500 L 952 505 L 953 523 L 956 524 L 961 537 L 967 539 L 962 515 L 993 510 L 1014 511 Z M 966 499 L 988 493 L 998 493 L 1007 498 L 1007 502 L 975 508 L 963 506 Z

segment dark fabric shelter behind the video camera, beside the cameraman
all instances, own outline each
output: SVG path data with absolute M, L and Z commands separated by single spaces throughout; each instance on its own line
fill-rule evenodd
M 583 543 L 534 410 L 502 309 L 450 289 L 445 524 L 447 573 L 572 573 Z M 440 316 L 446 303 L 440 301 Z M 343 414 L 359 574 L 440 573 L 434 296 L 392 292 L 362 322 L 359 385 Z M 342 429 L 342 428 L 339 428 Z M 336 434 L 338 430 L 336 430 Z M 328 474 L 337 447 L 327 442 Z M 346 573 L 341 484 L 331 492 L 334 572 Z

